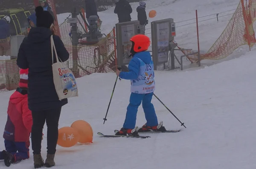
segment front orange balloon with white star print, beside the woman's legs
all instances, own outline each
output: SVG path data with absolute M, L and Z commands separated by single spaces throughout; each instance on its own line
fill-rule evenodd
M 72 127 L 62 127 L 58 130 L 57 144 L 63 147 L 71 147 L 77 144 L 79 138 L 79 133 Z

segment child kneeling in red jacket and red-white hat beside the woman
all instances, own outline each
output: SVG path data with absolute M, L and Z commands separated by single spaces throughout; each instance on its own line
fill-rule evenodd
M 0 160 L 4 160 L 6 166 L 29 158 L 29 136 L 33 122 L 28 107 L 27 89 L 28 69 L 21 69 L 19 87 L 10 97 L 3 132 L 6 150 L 0 152 Z

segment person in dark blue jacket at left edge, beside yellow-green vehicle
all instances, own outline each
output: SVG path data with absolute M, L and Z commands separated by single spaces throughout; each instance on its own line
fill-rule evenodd
M 10 23 L 9 16 L 0 20 L 0 56 L 10 55 Z

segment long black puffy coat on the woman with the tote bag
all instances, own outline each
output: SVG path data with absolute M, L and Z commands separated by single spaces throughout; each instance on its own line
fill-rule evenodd
M 51 35 L 48 28 L 32 28 L 18 52 L 17 65 L 22 69 L 29 68 L 28 102 L 32 111 L 50 110 L 67 104 L 67 99 L 58 99 L 53 83 Z M 63 42 L 55 35 L 53 40 L 58 57 L 62 62 L 67 61 L 69 53 Z

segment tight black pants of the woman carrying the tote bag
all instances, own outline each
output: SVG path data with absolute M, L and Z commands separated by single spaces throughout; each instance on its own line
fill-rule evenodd
M 41 153 L 42 132 L 47 124 L 47 154 L 55 154 L 58 141 L 58 121 L 61 107 L 45 111 L 32 111 L 33 125 L 31 132 L 33 154 Z

